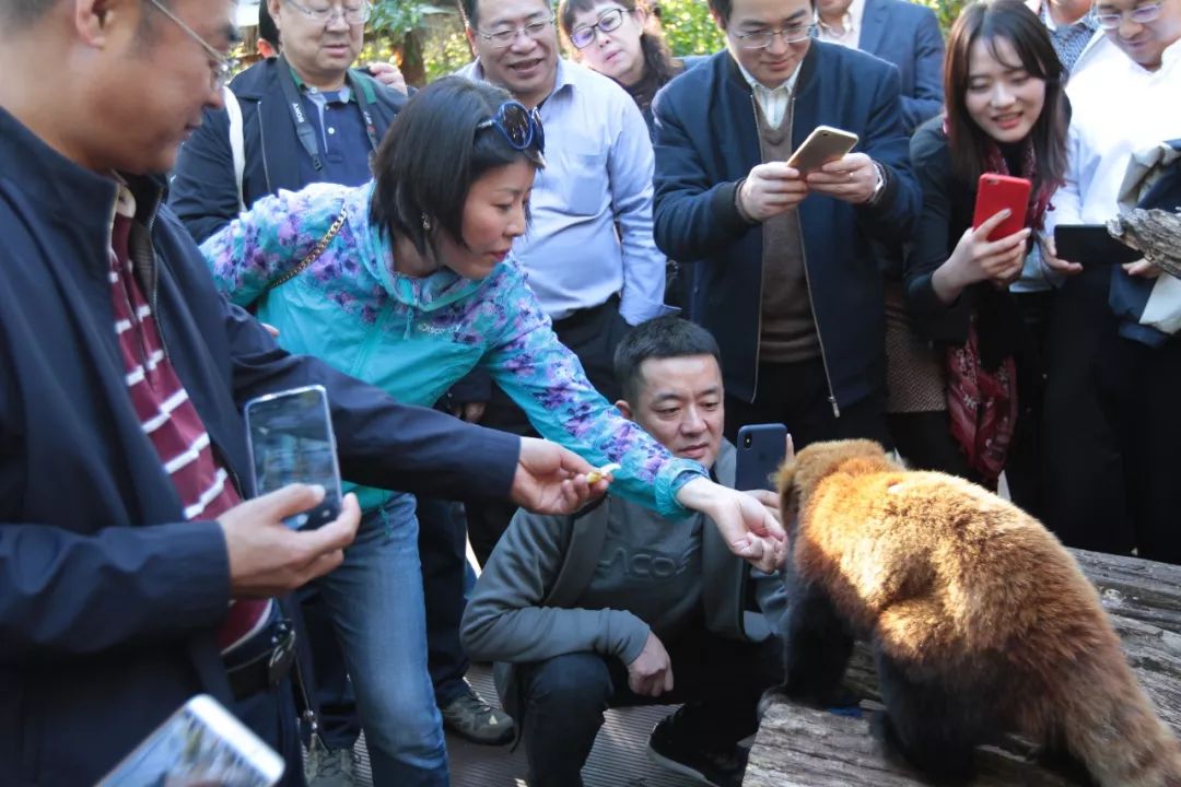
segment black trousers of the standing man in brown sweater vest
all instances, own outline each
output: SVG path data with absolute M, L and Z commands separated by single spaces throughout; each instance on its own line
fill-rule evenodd
M 796 363 L 761 363 L 753 402 L 726 396 L 726 437 L 733 442 L 746 424 L 785 424 L 796 450 L 821 440 L 867 438 L 887 448 L 885 392 L 841 408 L 837 418 L 828 400 L 828 379 L 821 359 Z

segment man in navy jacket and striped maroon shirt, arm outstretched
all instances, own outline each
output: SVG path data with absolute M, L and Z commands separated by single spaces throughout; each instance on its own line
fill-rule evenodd
M 197 693 L 243 715 L 302 780 L 281 670 L 228 674 L 222 651 L 244 611 L 257 636 L 235 641 L 261 642 L 260 665 L 287 663 L 268 599 L 338 565 L 358 511 L 294 532 L 281 519 L 315 490 L 241 501 L 252 396 L 325 386 L 341 470 L 361 484 L 462 484 L 552 511 L 588 497 L 574 473 L 589 466 L 569 452 L 399 406 L 283 353 L 216 294 L 148 173 L 220 105 L 233 8 L 0 2 L 0 71 L 57 86 L 0 81 L 4 783 L 93 783 Z

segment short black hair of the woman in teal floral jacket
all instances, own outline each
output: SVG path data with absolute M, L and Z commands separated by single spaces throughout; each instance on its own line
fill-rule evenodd
M 436 250 L 439 231 L 463 244 L 463 208 L 472 183 L 521 160 L 544 165 L 536 142 L 516 150 L 497 129 L 479 127 L 509 100 L 504 88 L 464 77 L 443 77 L 415 93 L 373 160 L 370 222 L 410 238 L 422 255 Z

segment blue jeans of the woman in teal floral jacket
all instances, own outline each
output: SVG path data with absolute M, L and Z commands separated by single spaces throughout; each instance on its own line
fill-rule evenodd
M 345 562 L 317 583 L 357 695 L 374 787 L 445 787 L 413 496 L 397 494 L 366 512 Z

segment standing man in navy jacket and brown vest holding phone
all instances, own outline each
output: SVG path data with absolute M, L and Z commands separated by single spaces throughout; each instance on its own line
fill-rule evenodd
M 693 319 L 722 346 L 726 433 L 783 422 L 796 445 L 889 444 L 873 241 L 919 212 L 898 71 L 817 41 L 808 0 L 711 0 L 726 51 L 657 96 L 657 243 L 698 265 Z M 817 125 L 857 135 L 810 172 Z

